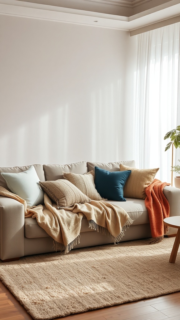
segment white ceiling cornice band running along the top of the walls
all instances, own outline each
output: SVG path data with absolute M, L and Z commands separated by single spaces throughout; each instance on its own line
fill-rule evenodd
M 147 26 L 151 26 L 151 28 L 153 28 L 153 25 L 157 22 L 164 20 L 172 21 L 172 18 L 180 16 L 180 3 L 163 9 L 161 6 L 158 6 L 151 10 L 149 9 L 127 17 L 19 0 L 0 0 L 0 15 L 11 15 L 22 18 L 56 22 L 59 21 L 63 23 L 74 23 L 125 31 L 136 30 L 137 32 L 138 29 L 141 29 L 142 32 L 142 28 Z M 171 23 L 169 22 L 169 24 Z

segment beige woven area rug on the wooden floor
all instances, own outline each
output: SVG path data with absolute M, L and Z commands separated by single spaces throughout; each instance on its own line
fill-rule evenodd
M 122 242 L 0 263 L 0 278 L 34 319 L 53 319 L 180 291 L 175 238 Z

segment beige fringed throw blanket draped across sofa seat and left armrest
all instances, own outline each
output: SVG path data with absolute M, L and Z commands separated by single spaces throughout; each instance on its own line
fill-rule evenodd
M 52 203 L 45 193 L 45 205 L 28 208 L 25 200 L 1 186 L 0 195 L 24 204 L 25 218 L 36 218 L 39 226 L 54 239 L 55 249 L 64 253 L 68 253 L 79 243 L 83 215 L 86 216 L 90 228 L 110 235 L 114 244 L 121 240 L 126 228 L 133 223 L 123 208 L 104 201 L 92 200 L 90 203 L 57 209 L 57 205 Z

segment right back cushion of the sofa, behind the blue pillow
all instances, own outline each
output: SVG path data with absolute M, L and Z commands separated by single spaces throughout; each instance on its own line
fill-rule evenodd
M 98 167 L 108 171 L 120 171 L 119 165 L 124 164 L 131 168 L 135 168 L 135 161 L 119 161 L 119 162 L 109 162 L 109 163 L 102 163 L 102 162 L 87 162 L 87 169 L 88 171 L 94 170 L 94 167 Z

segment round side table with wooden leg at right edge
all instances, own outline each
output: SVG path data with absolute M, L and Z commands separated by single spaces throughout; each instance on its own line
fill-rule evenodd
M 166 226 L 178 228 L 175 242 L 174 242 L 170 259 L 169 259 L 170 263 L 175 263 L 177 252 L 179 249 L 179 244 L 180 244 L 180 216 L 168 217 L 168 218 L 165 218 L 163 221 Z

